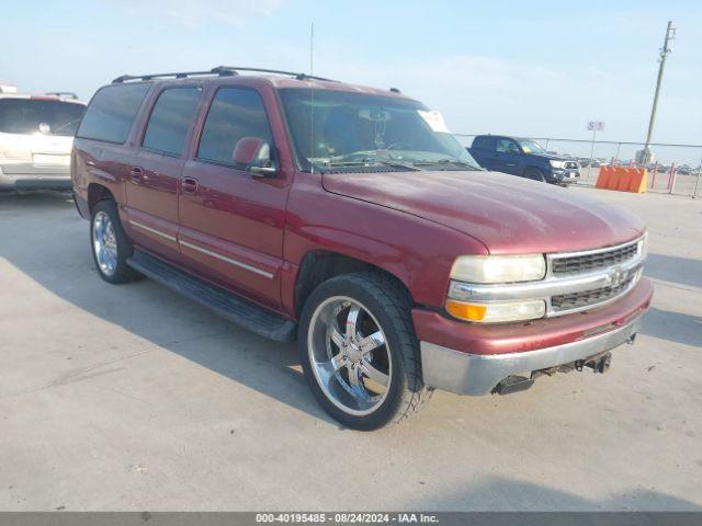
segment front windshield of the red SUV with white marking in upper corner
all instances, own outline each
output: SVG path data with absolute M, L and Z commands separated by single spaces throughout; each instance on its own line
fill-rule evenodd
M 307 89 L 281 96 L 303 170 L 480 170 L 441 114 L 419 102 Z

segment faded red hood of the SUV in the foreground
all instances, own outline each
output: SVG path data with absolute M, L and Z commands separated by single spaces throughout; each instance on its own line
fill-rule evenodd
M 498 172 L 325 173 L 322 184 L 458 230 L 492 254 L 596 249 L 645 230 L 636 216 L 570 188 Z

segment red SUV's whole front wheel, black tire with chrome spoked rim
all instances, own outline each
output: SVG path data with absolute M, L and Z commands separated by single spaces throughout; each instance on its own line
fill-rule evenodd
M 329 279 L 305 302 L 298 338 L 305 377 L 341 424 L 375 430 L 429 401 L 410 307 L 401 285 L 376 272 Z

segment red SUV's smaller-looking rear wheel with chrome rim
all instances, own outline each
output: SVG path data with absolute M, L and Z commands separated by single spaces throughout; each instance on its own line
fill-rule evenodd
M 117 205 L 112 199 L 100 201 L 90 218 L 90 245 L 98 274 L 112 284 L 129 283 L 143 276 L 126 260 L 134 248 L 122 228 Z

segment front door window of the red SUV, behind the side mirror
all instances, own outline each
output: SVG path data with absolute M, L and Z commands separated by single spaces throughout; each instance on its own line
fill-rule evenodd
M 231 164 L 234 147 L 244 137 L 258 137 L 272 142 L 271 126 L 261 95 L 246 88 L 222 88 L 210 106 L 197 159 Z

